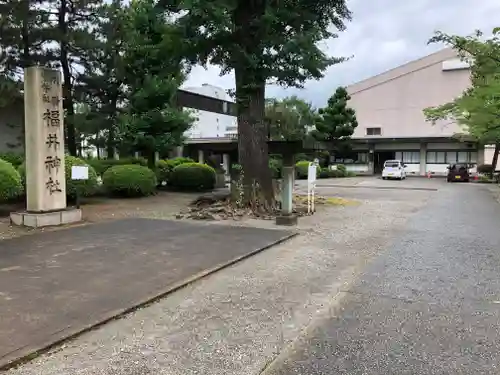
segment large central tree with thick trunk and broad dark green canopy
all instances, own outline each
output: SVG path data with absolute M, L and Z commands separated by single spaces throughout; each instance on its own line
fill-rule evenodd
M 344 0 L 292 2 L 248 0 L 164 0 L 180 12 L 186 47 L 193 61 L 234 70 L 239 162 L 243 203 L 254 210 L 274 206 L 268 168 L 265 117 L 266 83 L 301 87 L 319 79 L 343 58 L 327 56 L 320 41 L 336 37 L 351 14 Z

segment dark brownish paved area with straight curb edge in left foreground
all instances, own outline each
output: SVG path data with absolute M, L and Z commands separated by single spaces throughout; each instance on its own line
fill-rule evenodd
M 0 242 L 0 366 L 291 232 L 127 219 Z

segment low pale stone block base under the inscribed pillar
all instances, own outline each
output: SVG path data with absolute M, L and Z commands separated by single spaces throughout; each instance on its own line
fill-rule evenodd
M 82 210 L 77 208 L 51 212 L 11 212 L 10 214 L 11 224 L 30 228 L 72 224 L 81 220 Z

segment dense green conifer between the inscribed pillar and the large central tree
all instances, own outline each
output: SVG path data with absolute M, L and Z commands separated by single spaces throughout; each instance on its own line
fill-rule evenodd
M 181 145 L 194 118 L 178 108 L 176 93 L 187 66 L 183 40 L 177 26 L 152 0 L 131 4 L 125 19 L 124 82 L 128 102 L 122 116 L 124 140 L 147 155 L 155 166 L 155 152 L 165 153 Z

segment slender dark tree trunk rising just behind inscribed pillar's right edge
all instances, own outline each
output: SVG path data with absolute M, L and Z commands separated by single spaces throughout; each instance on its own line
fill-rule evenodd
M 75 108 L 73 103 L 73 83 L 71 81 L 71 68 L 68 53 L 68 25 L 66 23 L 67 3 L 61 0 L 58 15 L 60 46 L 60 63 L 63 70 L 63 109 L 66 112 L 66 145 L 70 155 L 77 156 L 76 129 L 75 129 Z

